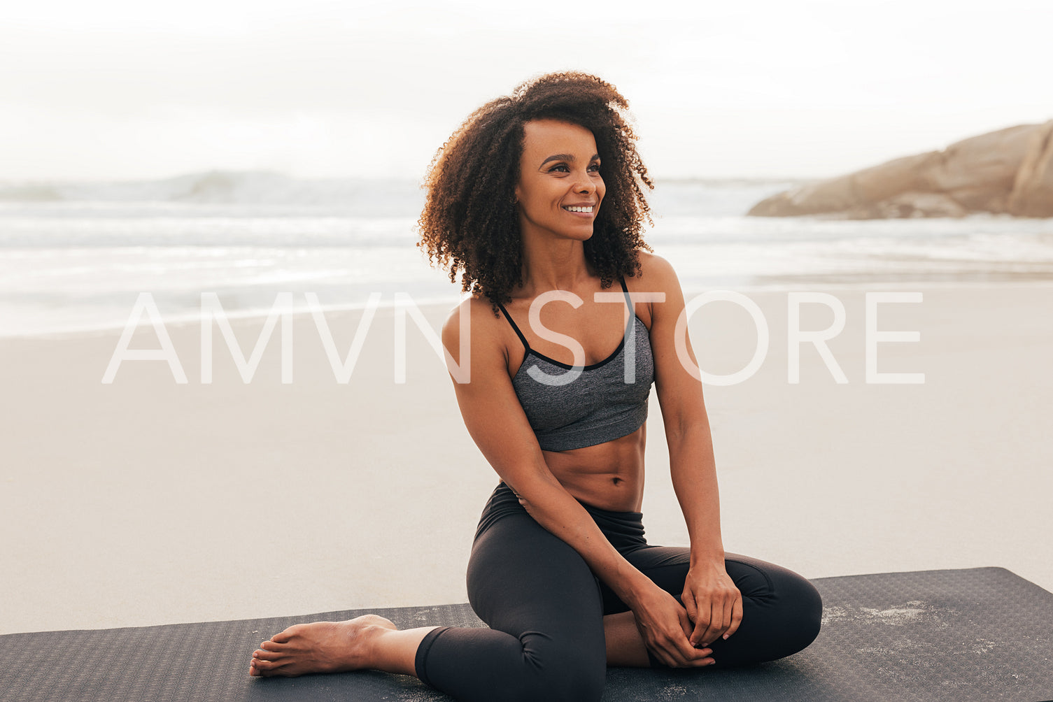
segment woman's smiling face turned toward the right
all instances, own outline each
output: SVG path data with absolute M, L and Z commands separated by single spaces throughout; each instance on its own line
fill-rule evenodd
M 550 119 L 523 126 L 515 193 L 524 237 L 589 239 L 605 192 L 592 132 Z

